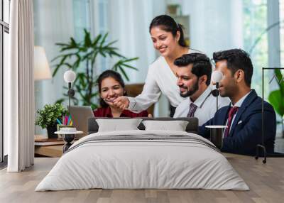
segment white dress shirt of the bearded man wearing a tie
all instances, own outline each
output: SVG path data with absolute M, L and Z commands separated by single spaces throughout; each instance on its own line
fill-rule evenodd
M 195 111 L 195 117 L 198 119 L 198 125 L 202 126 L 204 123 L 214 117 L 216 113 L 216 97 L 212 95 L 212 87 L 207 87 L 205 91 L 198 97 L 193 104 L 197 106 Z M 190 97 L 187 97 L 185 101 L 182 101 L 177 109 L 175 109 L 174 118 L 187 117 L 187 113 L 190 110 L 190 104 L 192 103 Z M 228 97 L 218 97 L 218 109 L 223 106 L 228 106 L 230 99 Z

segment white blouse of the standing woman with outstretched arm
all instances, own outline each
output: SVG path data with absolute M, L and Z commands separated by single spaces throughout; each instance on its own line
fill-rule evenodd
M 189 50 L 188 53 L 199 53 L 196 50 Z M 140 112 L 148 109 L 149 106 L 158 101 L 160 93 L 170 101 L 170 105 L 176 107 L 185 98 L 180 97 L 180 89 L 177 85 L 178 78 L 175 76 L 165 58 L 160 56 L 148 69 L 148 74 L 143 91 L 137 97 L 128 97 L 130 103 L 128 109 L 133 112 Z

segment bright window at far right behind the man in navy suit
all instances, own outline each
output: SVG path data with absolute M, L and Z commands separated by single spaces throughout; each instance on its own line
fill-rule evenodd
M 252 88 L 261 96 L 262 67 L 284 67 L 284 0 L 243 0 L 243 5 L 244 49 L 251 55 L 253 62 Z M 278 84 L 276 80 L 273 82 L 273 71 L 265 72 L 264 99 L 269 101 L 269 94 L 275 89 L 278 89 Z M 276 119 L 276 136 L 282 136 L 282 118 L 276 114 Z M 275 150 L 279 150 L 277 140 Z

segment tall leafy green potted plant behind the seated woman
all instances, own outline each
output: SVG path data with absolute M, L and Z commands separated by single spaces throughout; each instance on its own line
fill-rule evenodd
M 69 68 L 76 72 L 77 78 L 73 83 L 75 89 L 75 97 L 72 101 L 75 105 L 88 105 L 92 109 L 97 108 L 95 102 L 98 97 L 97 88 L 97 75 L 96 75 L 96 60 L 97 56 L 102 57 L 115 57 L 117 62 L 111 67 L 113 70 L 121 72 L 121 74 L 129 80 L 126 74 L 126 68 L 137 70 L 129 64 L 138 57 L 126 58 L 118 53 L 117 48 L 113 46 L 116 41 L 107 43 L 107 34 L 97 35 L 94 39 L 91 38 L 90 33 L 84 29 L 84 40 L 82 42 L 70 38 L 69 43 L 57 43 L 60 47 L 60 55 L 53 59 L 58 61 L 53 71 L 55 76 L 60 68 Z M 65 94 L 67 96 L 67 94 Z M 59 101 L 63 101 L 60 99 Z

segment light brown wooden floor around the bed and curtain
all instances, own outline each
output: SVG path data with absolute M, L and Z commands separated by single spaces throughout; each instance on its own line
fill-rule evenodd
M 34 192 L 58 158 L 35 158 L 24 172 L 0 171 L 0 202 L 284 202 L 284 158 L 228 158 L 250 191 L 217 190 L 72 190 Z

